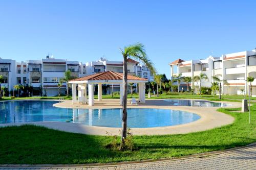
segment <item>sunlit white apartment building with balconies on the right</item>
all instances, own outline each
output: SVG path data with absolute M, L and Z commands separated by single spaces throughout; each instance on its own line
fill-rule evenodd
M 214 81 L 212 76 L 216 76 L 225 80 L 222 83 L 223 94 L 242 94 L 242 91 L 248 94 L 247 77 L 256 78 L 256 50 L 225 54 L 221 57 L 209 56 L 203 60 L 183 61 L 178 59 L 169 65 L 172 78 L 179 74 L 182 77 L 193 78 L 203 73 L 207 75 L 208 79 L 202 80 L 202 87 L 210 87 L 211 82 Z M 194 82 L 194 85 L 197 85 L 197 82 Z M 180 90 L 181 88 L 186 90 L 187 84 L 181 82 Z M 256 80 L 252 82 L 252 95 L 256 95 Z

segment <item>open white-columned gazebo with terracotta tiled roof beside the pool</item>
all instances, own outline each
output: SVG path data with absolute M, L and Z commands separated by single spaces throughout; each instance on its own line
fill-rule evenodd
M 123 86 L 122 86 L 123 74 L 114 71 L 100 72 L 94 75 L 73 79 L 69 83 L 72 84 L 72 102 L 73 104 L 82 103 L 94 105 L 94 85 L 98 84 L 98 101 L 102 100 L 102 84 L 120 84 L 120 105 L 122 105 L 123 99 Z M 139 84 L 139 103 L 145 103 L 145 83 L 147 79 L 139 78 L 136 76 L 128 75 L 127 83 Z M 78 86 L 78 88 L 77 88 Z M 88 97 L 87 97 L 88 88 Z M 78 89 L 78 98 L 76 90 Z

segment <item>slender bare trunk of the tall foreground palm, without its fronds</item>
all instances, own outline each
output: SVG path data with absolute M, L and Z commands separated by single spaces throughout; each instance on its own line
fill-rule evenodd
M 121 145 L 120 150 L 123 150 L 124 139 L 126 138 L 127 131 L 127 57 L 123 56 L 123 100 L 122 100 L 122 132 L 121 132 Z

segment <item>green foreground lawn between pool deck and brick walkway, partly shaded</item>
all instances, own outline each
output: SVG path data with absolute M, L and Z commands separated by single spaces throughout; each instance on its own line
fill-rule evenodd
M 112 151 L 110 136 L 73 134 L 36 126 L 0 128 L 0 164 L 104 163 L 223 150 L 256 142 L 256 105 L 248 113 L 219 111 L 235 118 L 232 125 L 197 133 L 135 136 L 136 151 Z

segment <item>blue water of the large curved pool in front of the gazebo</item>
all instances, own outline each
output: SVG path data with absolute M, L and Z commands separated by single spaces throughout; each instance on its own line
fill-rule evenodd
M 121 127 L 121 109 L 65 109 L 52 106 L 54 101 L 0 102 L 0 123 L 71 122 L 89 126 Z M 5 118 L 6 117 L 6 118 Z M 151 128 L 186 124 L 199 115 L 166 109 L 127 109 L 127 125 Z

